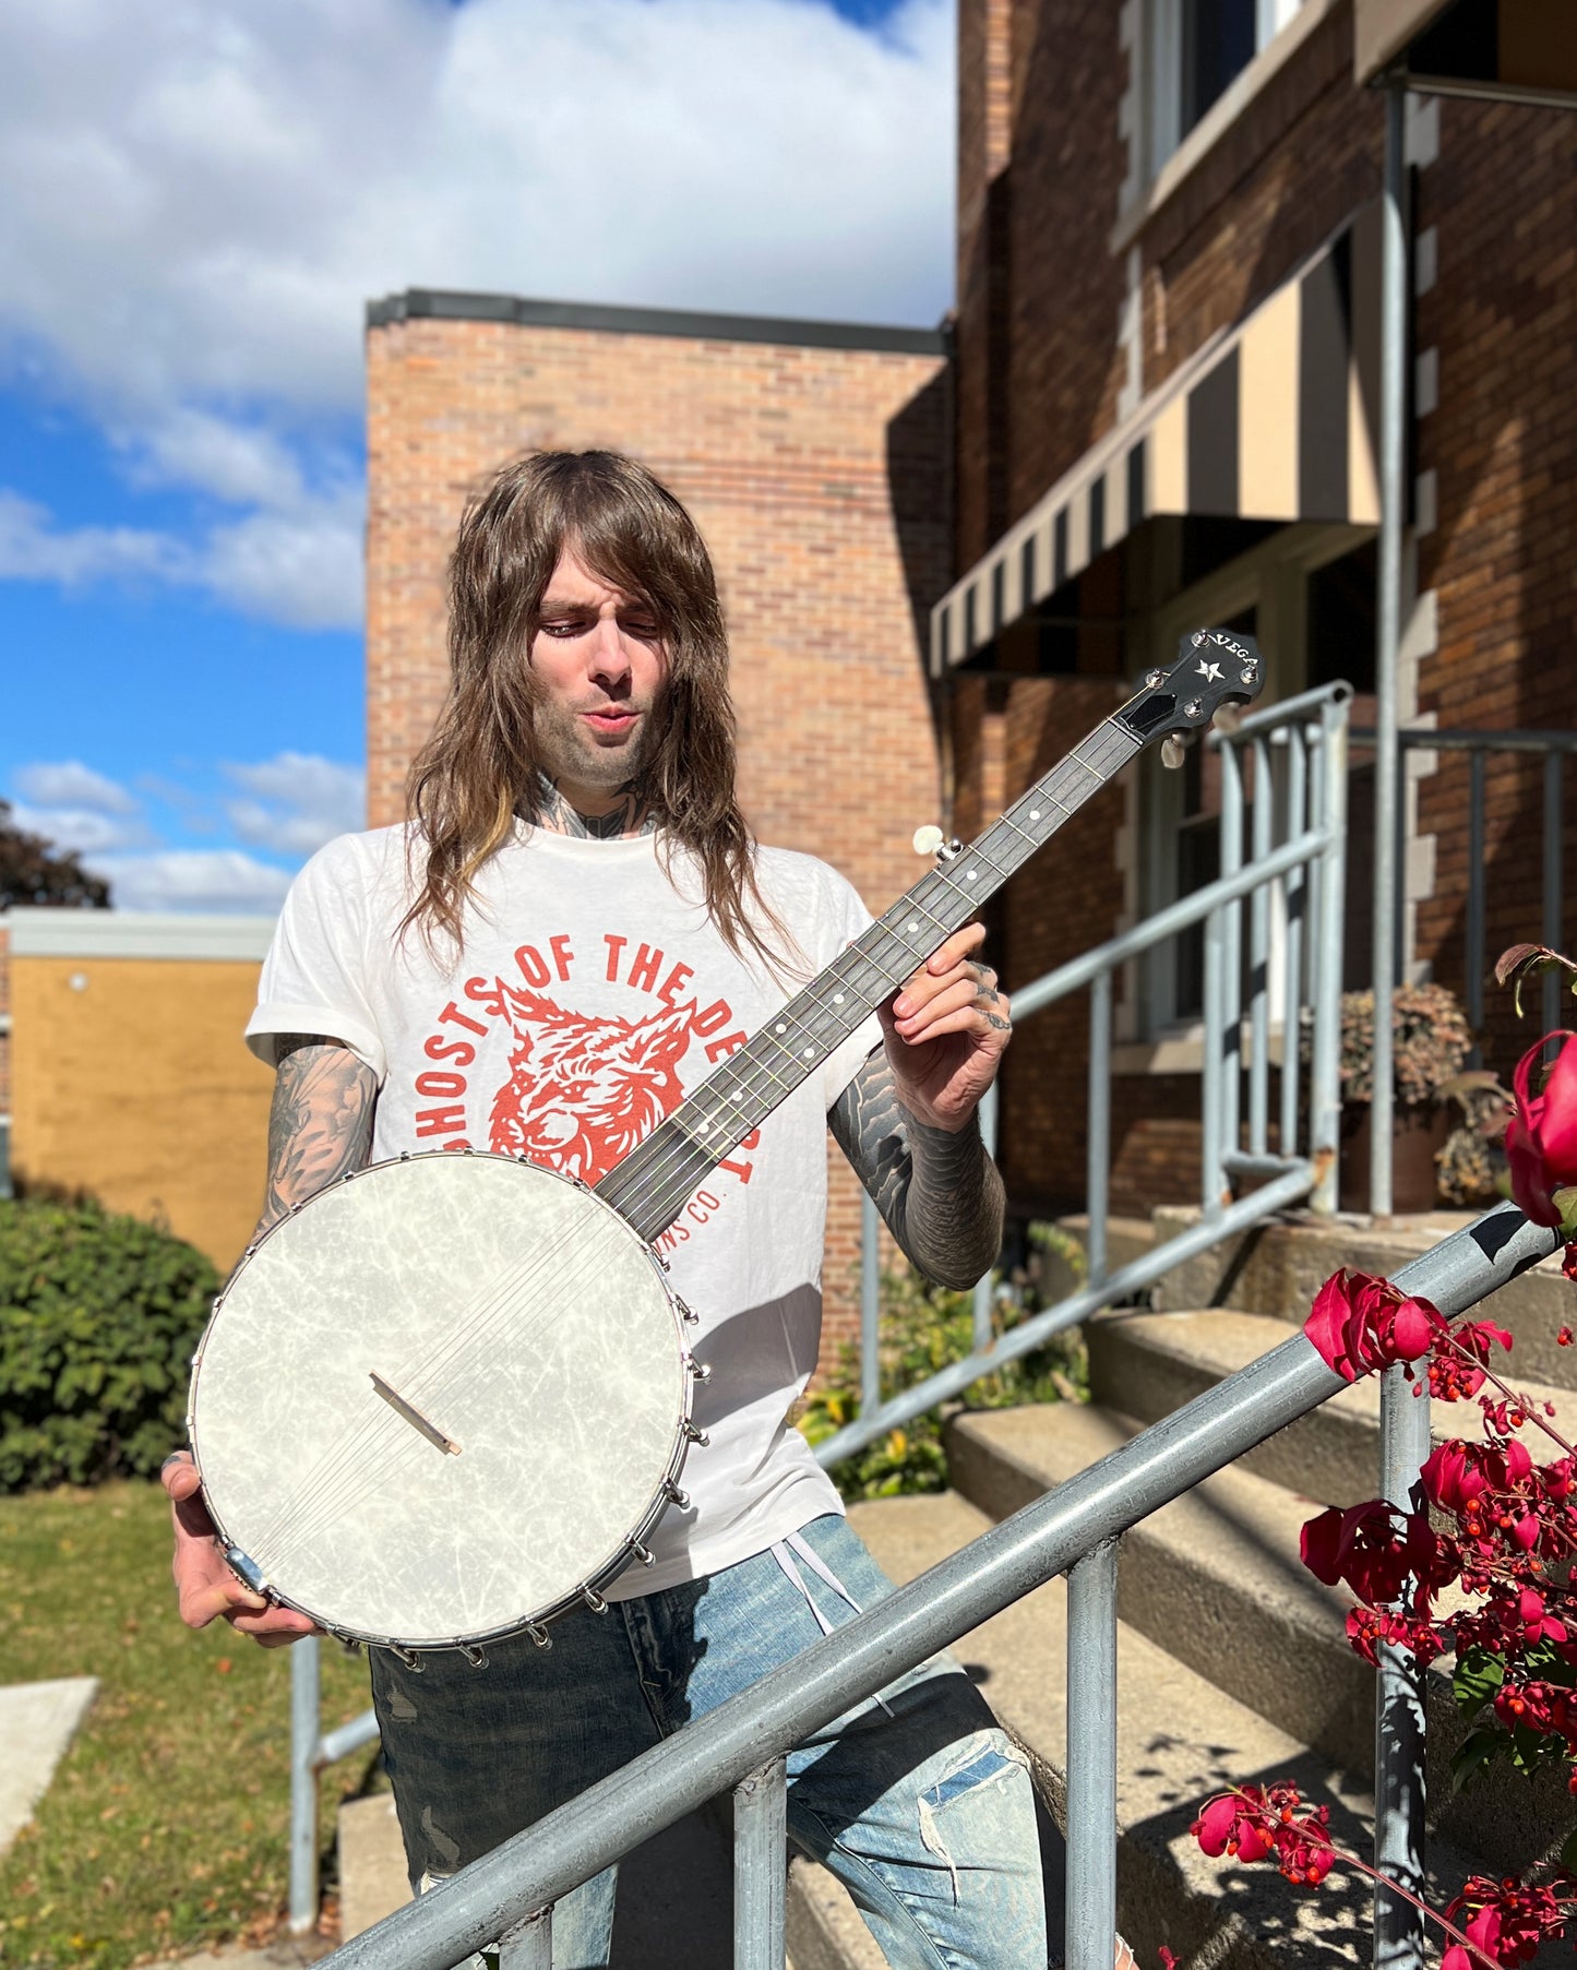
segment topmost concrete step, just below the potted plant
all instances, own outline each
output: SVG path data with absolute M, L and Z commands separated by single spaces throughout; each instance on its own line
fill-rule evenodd
M 1315 1294 L 1339 1267 L 1390 1279 L 1410 1259 L 1473 1223 L 1477 1215 L 1427 1212 L 1421 1217 L 1394 1217 L 1382 1227 L 1366 1217 L 1335 1217 L 1329 1223 L 1311 1217 L 1278 1219 L 1173 1267 L 1156 1288 L 1156 1306 L 1164 1312 L 1227 1306 L 1301 1326 Z M 1164 1206 L 1156 1212 L 1156 1237 L 1175 1237 L 1197 1223 L 1195 1208 Z M 1498 1320 L 1512 1336 L 1510 1359 L 1518 1379 L 1577 1389 L 1577 1349 L 1555 1346 L 1561 1326 L 1571 1320 L 1573 1304 L 1559 1255 L 1484 1300 L 1482 1314 Z

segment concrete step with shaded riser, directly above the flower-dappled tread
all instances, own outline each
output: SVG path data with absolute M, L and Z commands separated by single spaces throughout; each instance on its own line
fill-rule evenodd
M 1099 1407 L 977 1411 L 949 1424 L 949 1472 L 971 1503 L 1004 1519 L 1140 1428 Z M 1325 1588 L 1297 1558 L 1317 1509 L 1240 1466 L 1217 1472 L 1124 1535 L 1118 1611 L 1167 1655 L 1225 1680 L 1268 1722 L 1372 1783 L 1374 1671 L 1347 1641 L 1351 1596 Z M 1455 1797 L 1451 1757 L 1463 1736 L 1449 1676 L 1437 1669 L 1427 1682 L 1427 1785 L 1439 1830 L 1496 1870 L 1559 1846 L 1571 1818 L 1559 1775 L 1528 1785 L 1500 1765 Z

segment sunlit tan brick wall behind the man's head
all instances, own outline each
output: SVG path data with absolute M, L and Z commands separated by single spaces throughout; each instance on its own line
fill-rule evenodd
M 762 839 L 821 855 L 880 910 L 939 812 L 919 632 L 951 575 L 947 382 L 929 355 L 514 323 L 368 333 L 368 800 L 445 688 L 443 565 L 467 492 L 534 447 L 644 459 L 713 550 L 732 636 L 740 790 Z M 833 1152 L 827 1347 L 852 1332 L 858 1186 Z

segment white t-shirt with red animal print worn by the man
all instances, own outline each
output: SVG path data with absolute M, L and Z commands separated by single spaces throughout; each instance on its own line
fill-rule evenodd
M 760 849 L 758 881 L 821 971 L 870 922 L 858 894 L 809 855 Z M 801 979 L 774 979 L 719 938 L 695 863 L 673 881 L 652 835 L 620 841 L 524 823 L 486 865 L 465 950 L 417 932 L 406 831 L 341 835 L 285 896 L 264 961 L 252 1050 L 274 1034 L 323 1032 L 378 1076 L 372 1160 L 402 1150 L 496 1149 L 595 1184 Z M 799 967 L 795 967 L 799 969 Z M 656 1564 L 628 1570 L 614 1600 L 675 1586 L 764 1552 L 839 1495 L 786 1422 L 815 1369 L 827 1215 L 827 1109 L 880 1044 L 872 1015 L 697 1186 L 658 1239 L 671 1284 L 701 1316 L 689 1507 L 669 1507 Z M 595 1399 L 595 1391 L 591 1391 Z

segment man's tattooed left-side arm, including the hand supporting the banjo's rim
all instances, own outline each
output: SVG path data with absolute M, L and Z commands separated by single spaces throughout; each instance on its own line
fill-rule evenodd
M 282 1032 L 274 1042 L 274 1107 L 268 1117 L 268 1192 L 258 1235 L 325 1184 L 360 1170 L 372 1147 L 378 1091 L 372 1068 L 321 1032 Z M 203 1505 L 197 1466 L 177 1450 L 159 1472 L 175 1529 L 175 1598 L 187 1627 L 222 1617 L 264 1649 L 289 1647 L 311 1633 L 293 1608 L 270 1608 L 224 1564 Z

